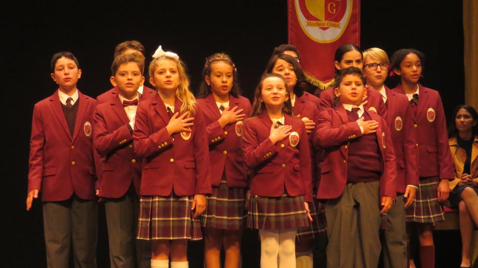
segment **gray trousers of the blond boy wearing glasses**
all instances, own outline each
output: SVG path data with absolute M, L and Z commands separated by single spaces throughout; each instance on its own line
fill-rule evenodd
M 381 230 L 383 267 L 407 267 L 407 231 L 405 227 L 405 198 L 403 194 L 397 195 L 397 201 L 387 212 L 385 230 Z

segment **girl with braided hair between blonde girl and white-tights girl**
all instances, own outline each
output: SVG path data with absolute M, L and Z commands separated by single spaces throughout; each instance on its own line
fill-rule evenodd
M 240 136 L 242 120 L 251 106 L 239 95 L 237 70 L 228 55 L 218 53 L 206 59 L 200 95 L 197 105 L 206 123 L 213 185 L 201 217 L 205 264 L 207 268 L 220 268 L 224 247 L 225 267 L 239 268 L 247 187 Z

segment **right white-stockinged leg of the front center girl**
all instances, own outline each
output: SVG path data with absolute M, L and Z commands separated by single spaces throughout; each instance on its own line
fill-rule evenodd
M 296 268 L 295 235 L 297 229 L 279 231 L 279 268 Z

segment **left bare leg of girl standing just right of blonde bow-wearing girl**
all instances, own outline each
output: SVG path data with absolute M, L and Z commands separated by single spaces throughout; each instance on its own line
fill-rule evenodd
M 204 228 L 204 261 L 207 268 L 220 268 L 223 230 Z

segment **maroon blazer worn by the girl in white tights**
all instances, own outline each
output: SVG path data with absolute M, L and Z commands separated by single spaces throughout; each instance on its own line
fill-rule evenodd
M 272 121 L 266 114 L 247 119 L 242 134 L 242 151 L 246 166 L 253 172 L 250 193 L 262 197 L 304 195 L 312 201 L 312 178 L 309 140 L 304 123 L 285 115 L 291 134 L 272 144 L 269 139 Z

